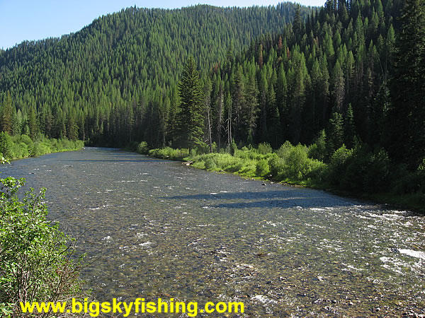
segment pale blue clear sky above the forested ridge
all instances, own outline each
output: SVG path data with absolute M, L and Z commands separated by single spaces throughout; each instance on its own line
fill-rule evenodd
M 181 8 L 196 4 L 212 6 L 268 6 L 282 0 L 0 0 L 0 48 L 24 40 L 42 40 L 74 33 L 99 16 L 122 8 Z M 294 0 L 295 1 L 295 0 Z M 306 6 L 322 6 L 324 0 L 296 0 Z

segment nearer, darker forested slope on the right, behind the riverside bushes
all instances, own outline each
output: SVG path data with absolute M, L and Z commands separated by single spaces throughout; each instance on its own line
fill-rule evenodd
M 327 129 L 330 151 L 380 143 L 399 8 L 397 0 L 329 1 L 305 23 L 297 12 L 283 33 L 258 37 L 212 70 L 213 127 L 223 104 L 237 142 L 310 144 Z

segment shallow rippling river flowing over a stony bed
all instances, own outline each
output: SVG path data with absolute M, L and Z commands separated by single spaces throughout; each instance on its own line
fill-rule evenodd
M 47 188 L 100 301 L 242 301 L 245 316 L 425 313 L 425 217 L 109 148 L 1 167 Z

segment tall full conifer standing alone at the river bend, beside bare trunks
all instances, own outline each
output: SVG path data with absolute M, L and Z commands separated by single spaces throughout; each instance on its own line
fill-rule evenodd
M 203 141 L 203 91 L 193 57 L 189 57 L 179 82 L 180 105 L 176 119 L 178 145 L 193 149 Z

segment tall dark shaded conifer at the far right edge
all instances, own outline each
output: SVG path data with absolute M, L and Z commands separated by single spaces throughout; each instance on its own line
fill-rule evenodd
M 406 0 L 400 20 L 386 143 L 415 168 L 425 158 L 425 1 Z

